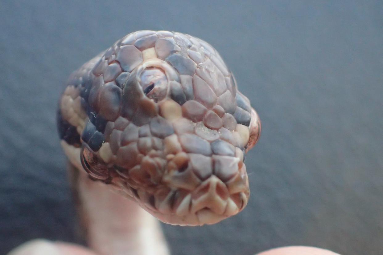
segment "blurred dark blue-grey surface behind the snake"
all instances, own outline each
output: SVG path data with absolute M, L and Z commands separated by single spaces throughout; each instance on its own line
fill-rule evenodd
M 1 254 L 74 240 L 60 84 L 139 29 L 210 42 L 262 120 L 247 208 L 214 226 L 164 226 L 173 254 L 383 254 L 382 1 L 57 2 L 0 3 Z

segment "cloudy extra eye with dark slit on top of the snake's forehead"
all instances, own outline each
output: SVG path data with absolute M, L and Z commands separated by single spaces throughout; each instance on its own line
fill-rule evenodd
M 164 71 L 156 67 L 148 67 L 139 76 L 144 94 L 154 102 L 161 101 L 167 94 L 168 80 Z

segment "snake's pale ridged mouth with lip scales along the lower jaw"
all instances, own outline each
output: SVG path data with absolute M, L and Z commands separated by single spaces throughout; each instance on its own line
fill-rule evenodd
M 238 186 L 231 188 L 234 182 L 238 182 L 238 178 L 224 184 L 212 175 L 193 191 L 162 187 L 150 193 L 131 187 L 127 193 L 164 223 L 201 226 L 217 223 L 245 208 L 249 198 L 248 186 L 238 192 Z

